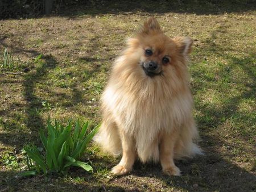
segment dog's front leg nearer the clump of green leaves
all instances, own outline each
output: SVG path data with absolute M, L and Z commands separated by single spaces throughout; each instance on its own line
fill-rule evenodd
M 122 141 L 122 159 L 118 165 L 112 168 L 112 173 L 114 174 L 126 174 L 130 172 L 133 168 L 133 164 L 136 158 L 136 149 L 134 139 L 120 131 L 121 141 Z

